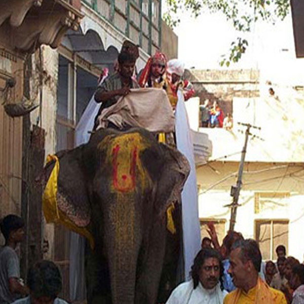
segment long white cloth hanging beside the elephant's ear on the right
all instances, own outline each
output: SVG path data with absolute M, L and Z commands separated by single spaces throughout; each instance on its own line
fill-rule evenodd
M 175 111 L 176 145 L 177 149 L 188 160 L 191 168 L 181 193 L 184 274 L 187 279 L 194 258 L 201 249 L 201 231 L 193 142 L 182 91 L 178 90 L 177 96 L 178 101 Z

